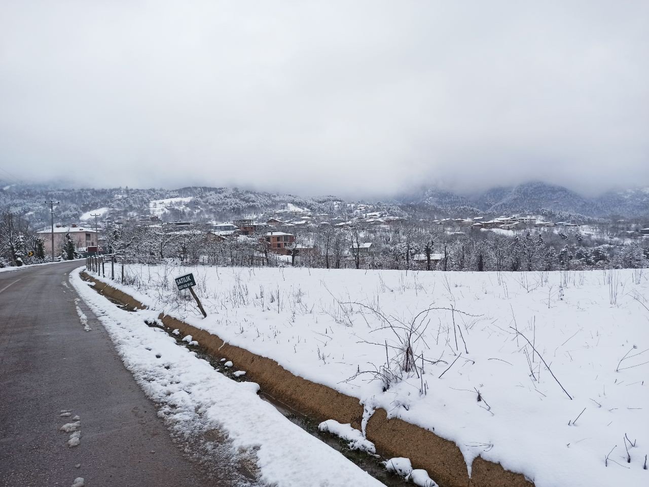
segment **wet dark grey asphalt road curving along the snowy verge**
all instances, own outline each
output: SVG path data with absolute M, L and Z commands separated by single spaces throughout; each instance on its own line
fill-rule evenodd
M 230 486 L 181 453 L 80 303 L 83 331 L 67 283 L 82 264 L 0 272 L 0 486 Z M 80 416 L 76 447 L 61 410 Z

